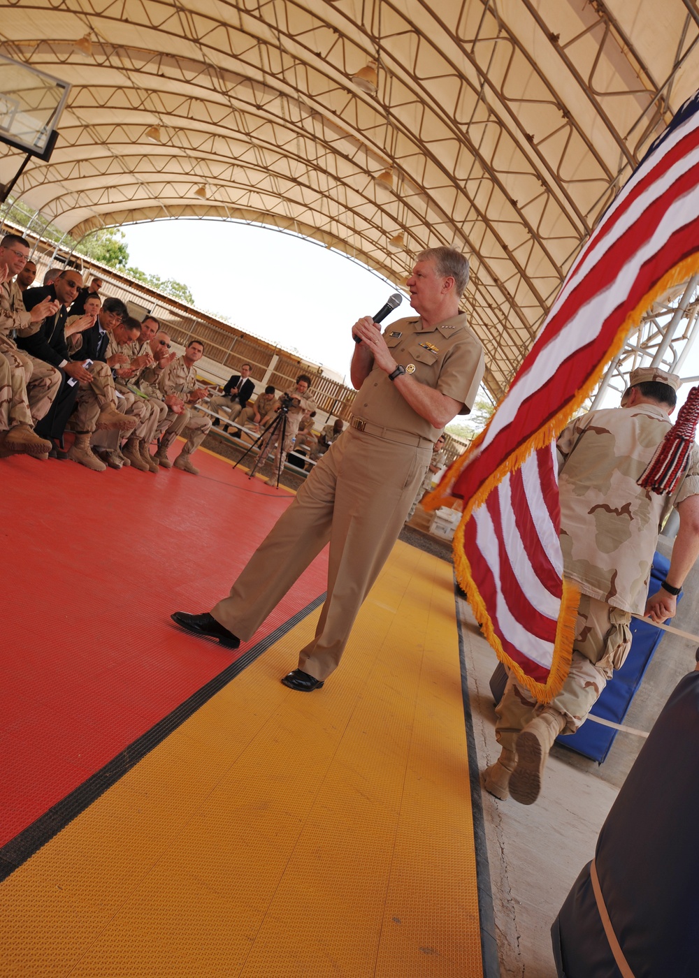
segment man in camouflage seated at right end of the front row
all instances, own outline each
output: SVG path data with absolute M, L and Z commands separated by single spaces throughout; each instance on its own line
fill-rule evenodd
M 202 444 L 211 426 L 210 418 L 193 414 L 190 410 L 198 401 L 209 396 L 207 388 L 197 385 L 197 370 L 194 366 L 203 356 L 204 343 L 199 339 L 190 340 L 184 355 L 168 364 L 158 381 L 166 403 L 169 398 L 166 420 L 170 424 L 163 433 L 156 459 L 163 468 L 174 465 L 192 475 L 199 475 L 199 469 L 192 465 L 191 456 Z M 187 416 L 184 425 L 178 417 L 182 414 Z M 177 437 L 178 428 L 187 435 L 187 442 L 172 463 L 167 458 L 167 449 Z

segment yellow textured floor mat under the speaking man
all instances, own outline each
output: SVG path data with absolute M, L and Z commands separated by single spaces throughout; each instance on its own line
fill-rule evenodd
M 451 568 L 396 544 L 286 689 L 317 614 L 5 880 L 3 976 L 483 974 Z

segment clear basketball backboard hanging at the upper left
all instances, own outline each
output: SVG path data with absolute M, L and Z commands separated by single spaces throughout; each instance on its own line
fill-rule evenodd
M 0 55 L 0 140 L 48 159 L 70 85 Z

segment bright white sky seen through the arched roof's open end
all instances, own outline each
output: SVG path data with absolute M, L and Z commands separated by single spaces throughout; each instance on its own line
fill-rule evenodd
M 350 372 L 352 325 L 396 291 L 338 252 L 268 228 L 177 220 L 122 230 L 129 264 L 183 282 L 200 309 L 341 377 Z M 386 322 L 408 310 L 405 298 Z

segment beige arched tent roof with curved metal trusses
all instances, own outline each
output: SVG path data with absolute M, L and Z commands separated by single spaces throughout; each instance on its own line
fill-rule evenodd
M 495 395 L 595 219 L 699 83 L 693 0 L 0 11 L 0 53 L 73 86 L 50 162 L 16 187 L 25 203 L 78 238 L 161 217 L 261 221 L 397 284 L 421 248 L 453 244 L 472 257 L 464 307 Z M 21 158 L 0 158 L 0 180 Z

